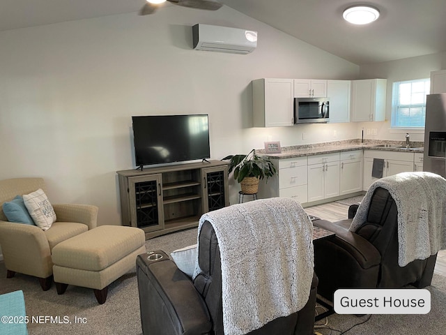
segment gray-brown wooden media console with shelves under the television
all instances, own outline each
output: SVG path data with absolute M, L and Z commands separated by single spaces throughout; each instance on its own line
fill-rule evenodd
M 122 224 L 146 239 L 197 227 L 202 214 L 229 205 L 228 164 L 185 163 L 116 172 Z

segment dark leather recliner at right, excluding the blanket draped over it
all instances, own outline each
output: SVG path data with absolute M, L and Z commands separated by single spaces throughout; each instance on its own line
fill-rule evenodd
M 384 188 L 372 195 L 367 221 L 355 232 L 349 231 L 357 205 L 348 219 L 314 225 L 335 232 L 330 239 L 314 241 L 314 271 L 318 274 L 318 294 L 332 301 L 338 288 L 402 288 L 431 284 L 437 255 L 414 260 L 405 267 L 398 264 L 397 204 Z

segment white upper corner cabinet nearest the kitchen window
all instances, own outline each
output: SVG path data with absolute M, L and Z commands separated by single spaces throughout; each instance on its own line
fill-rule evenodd
M 351 121 L 385 121 L 386 89 L 386 79 L 353 80 Z

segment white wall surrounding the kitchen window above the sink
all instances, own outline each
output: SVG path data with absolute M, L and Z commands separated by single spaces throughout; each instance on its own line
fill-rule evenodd
M 380 140 L 405 141 L 406 131 L 392 131 L 390 118 L 392 116 L 392 84 L 402 80 L 429 78 L 431 71 L 446 69 L 446 52 L 426 56 L 387 61 L 360 67 L 360 78 L 387 78 L 386 120 L 384 122 L 367 122 L 358 124 L 361 127 L 377 128 L 377 135 L 364 135 L 365 138 Z M 410 140 L 424 141 L 424 131 L 409 131 Z

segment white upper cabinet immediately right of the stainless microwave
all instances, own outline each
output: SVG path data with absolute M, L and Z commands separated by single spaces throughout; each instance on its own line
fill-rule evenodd
M 327 80 L 330 124 L 350 121 L 350 80 Z

